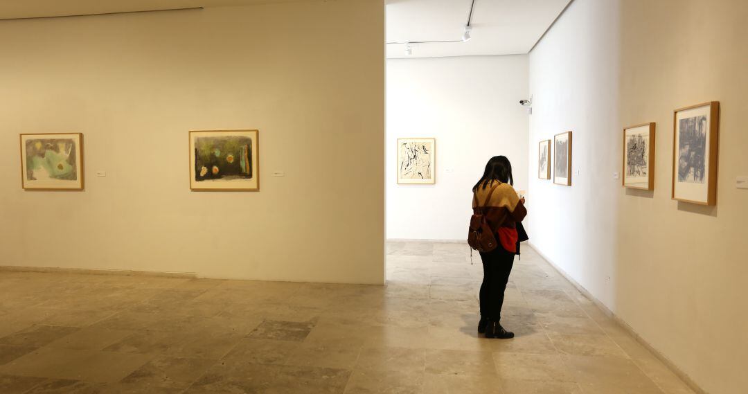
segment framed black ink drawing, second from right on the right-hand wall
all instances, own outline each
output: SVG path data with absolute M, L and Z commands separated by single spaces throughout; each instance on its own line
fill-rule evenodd
M 654 123 L 623 129 L 623 187 L 654 190 Z

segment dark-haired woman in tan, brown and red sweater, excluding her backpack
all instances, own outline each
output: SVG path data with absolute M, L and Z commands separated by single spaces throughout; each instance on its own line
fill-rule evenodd
M 518 252 L 517 223 L 527 215 L 527 209 L 524 208 L 524 198 L 520 199 L 512 185 L 514 177 L 509 159 L 494 156 L 485 164 L 483 176 L 473 186 L 473 212 L 485 215 L 498 241 L 496 249 L 480 253 L 483 283 L 480 286 L 478 332 L 485 333 L 486 338 L 514 338 L 514 333 L 501 327 L 501 307 L 514 256 Z

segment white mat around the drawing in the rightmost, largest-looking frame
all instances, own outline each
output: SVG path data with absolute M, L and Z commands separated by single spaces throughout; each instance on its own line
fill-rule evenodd
M 699 183 L 688 183 L 678 182 L 678 159 L 680 151 L 680 134 L 681 134 L 681 119 L 687 119 L 689 117 L 706 117 L 706 150 L 704 156 L 704 173 L 705 182 Z M 675 183 L 673 184 L 673 196 L 681 200 L 690 200 L 700 203 L 706 203 L 709 199 L 709 157 L 710 153 L 710 136 L 711 136 L 711 105 L 704 105 L 703 107 L 691 108 L 684 111 L 679 111 L 675 114 L 675 154 L 673 155 L 674 172 L 672 174 Z

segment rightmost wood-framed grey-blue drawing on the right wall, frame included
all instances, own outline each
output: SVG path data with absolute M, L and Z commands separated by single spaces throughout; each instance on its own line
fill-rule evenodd
M 673 200 L 717 204 L 719 138 L 720 102 L 705 102 L 673 112 Z

